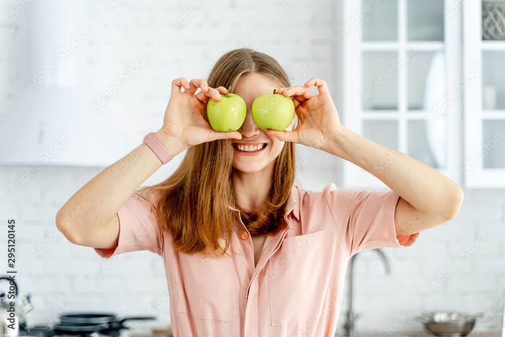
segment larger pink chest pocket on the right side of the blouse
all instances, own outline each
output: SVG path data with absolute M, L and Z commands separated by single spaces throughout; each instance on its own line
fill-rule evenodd
M 324 230 L 285 238 L 268 265 L 272 326 L 318 319 L 328 281 Z

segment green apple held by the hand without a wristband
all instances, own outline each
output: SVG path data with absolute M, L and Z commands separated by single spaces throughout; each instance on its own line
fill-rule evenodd
M 294 118 L 294 103 L 279 93 L 260 95 L 252 102 L 252 119 L 262 129 L 285 130 Z

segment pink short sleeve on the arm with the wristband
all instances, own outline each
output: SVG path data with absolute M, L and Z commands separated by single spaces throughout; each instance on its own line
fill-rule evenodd
M 128 199 L 118 211 L 119 240 L 116 249 L 94 248 L 95 252 L 105 259 L 118 254 L 147 250 L 162 254 L 163 231 L 150 209 L 150 202 L 139 192 Z

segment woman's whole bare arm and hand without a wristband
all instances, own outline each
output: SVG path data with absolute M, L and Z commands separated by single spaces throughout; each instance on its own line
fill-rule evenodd
M 318 94 L 310 90 L 313 85 Z M 268 132 L 348 160 L 389 186 L 400 196 L 394 214 L 397 237 L 437 226 L 460 211 L 463 191 L 455 182 L 412 157 L 345 129 L 322 79 L 313 77 L 304 86 L 279 88 L 276 93 L 293 98 L 298 125 L 293 131 Z

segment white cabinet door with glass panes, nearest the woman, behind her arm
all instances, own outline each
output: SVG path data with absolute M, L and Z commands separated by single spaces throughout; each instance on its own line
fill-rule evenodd
M 458 82 L 463 61 L 458 3 L 344 0 L 338 33 L 343 125 L 460 183 L 463 90 Z M 377 165 L 387 167 L 392 161 L 384 158 Z M 346 188 L 386 188 L 347 161 L 342 180 Z

